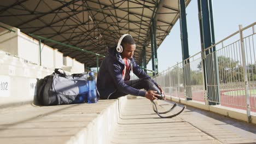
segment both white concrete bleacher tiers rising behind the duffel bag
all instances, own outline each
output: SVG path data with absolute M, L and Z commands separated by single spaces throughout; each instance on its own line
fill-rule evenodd
M 55 68 L 66 74 L 84 73 L 84 64 L 20 32 L 0 28 L 0 107 L 27 104 L 36 96 L 36 83 Z M 41 58 L 41 62 L 40 62 Z

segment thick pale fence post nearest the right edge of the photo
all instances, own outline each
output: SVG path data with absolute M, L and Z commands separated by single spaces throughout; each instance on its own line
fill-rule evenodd
M 247 122 L 251 123 L 251 110 L 250 110 L 250 99 L 249 99 L 249 86 L 248 86 L 248 75 L 247 75 L 247 65 L 245 56 L 245 44 L 243 43 L 243 32 L 241 31 L 242 25 L 239 25 L 240 41 L 241 41 L 241 53 L 242 53 L 242 63 L 243 63 L 243 79 L 245 82 L 245 95 L 246 95 L 246 112 L 247 112 Z

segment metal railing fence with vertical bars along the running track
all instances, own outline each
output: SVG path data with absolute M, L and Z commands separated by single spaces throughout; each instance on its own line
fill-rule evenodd
M 249 117 L 250 111 L 256 112 L 255 25 L 240 26 L 239 31 L 154 79 L 173 97 L 184 94 L 183 98 L 206 105 L 247 110 Z

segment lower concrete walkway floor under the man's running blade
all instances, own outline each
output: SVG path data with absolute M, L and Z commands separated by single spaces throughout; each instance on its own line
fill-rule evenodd
M 171 101 L 158 101 L 160 110 Z M 128 99 L 121 107 L 112 143 L 256 143 L 256 125 L 187 107 L 174 118 L 159 118 L 145 98 Z M 171 113 L 181 110 L 177 106 Z M 170 114 L 169 114 L 170 115 Z

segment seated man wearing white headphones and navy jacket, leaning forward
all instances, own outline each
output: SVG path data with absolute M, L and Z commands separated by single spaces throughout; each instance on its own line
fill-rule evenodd
M 116 99 L 127 94 L 149 100 L 162 98 L 163 95 L 165 99 L 162 88 L 136 64 L 132 57 L 135 50 L 135 41 L 129 34 L 124 34 L 118 46 L 109 49 L 97 76 L 100 99 Z M 131 71 L 139 77 L 138 80 L 130 80 Z M 142 88 L 147 91 L 141 91 Z

